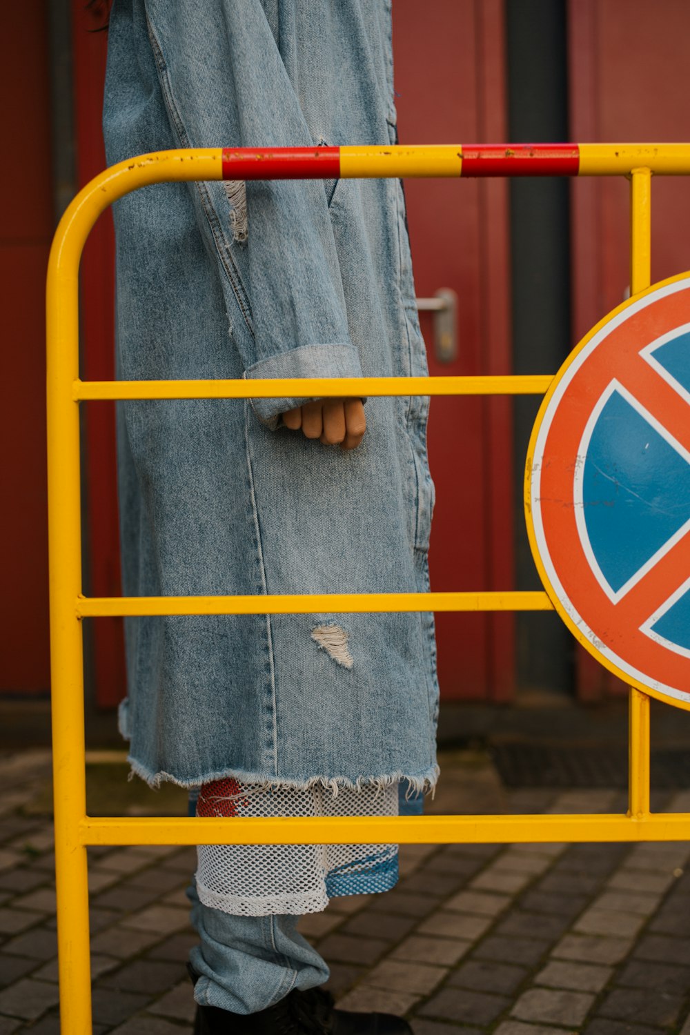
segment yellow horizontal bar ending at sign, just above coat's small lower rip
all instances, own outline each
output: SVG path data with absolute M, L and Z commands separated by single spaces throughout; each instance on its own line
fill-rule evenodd
M 276 596 L 79 596 L 78 618 L 141 615 L 314 615 L 552 611 L 542 590 L 486 593 L 286 593 Z

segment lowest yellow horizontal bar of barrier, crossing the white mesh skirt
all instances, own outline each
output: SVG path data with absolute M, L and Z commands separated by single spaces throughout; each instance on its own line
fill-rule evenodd
M 80 823 L 83 845 L 227 845 L 228 821 L 216 818 L 97 818 Z M 530 841 L 690 839 L 690 816 L 352 816 L 233 817 L 234 845 L 487 845 Z

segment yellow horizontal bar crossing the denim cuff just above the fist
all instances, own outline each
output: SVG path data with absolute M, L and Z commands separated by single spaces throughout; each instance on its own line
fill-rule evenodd
M 274 378 L 233 381 L 74 381 L 72 398 L 291 398 L 300 395 L 540 395 L 549 374 L 434 378 Z

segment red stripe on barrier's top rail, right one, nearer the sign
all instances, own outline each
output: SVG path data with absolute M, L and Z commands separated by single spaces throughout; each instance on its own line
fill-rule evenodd
M 462 176 L 577 176 L 577 144 L 463 144 Z

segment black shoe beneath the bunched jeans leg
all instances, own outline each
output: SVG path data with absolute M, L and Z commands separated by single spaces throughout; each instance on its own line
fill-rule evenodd
M 191 968 L 189 974 L 196 981 Z M 336 1010 L 333 997 L 323 988 L 295 988 L 258 1013 L 197 1006 L 194 1035 L 412 1035 L 412 1029 L 392 1013 Z

